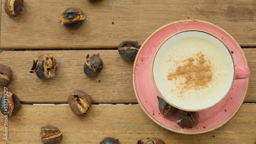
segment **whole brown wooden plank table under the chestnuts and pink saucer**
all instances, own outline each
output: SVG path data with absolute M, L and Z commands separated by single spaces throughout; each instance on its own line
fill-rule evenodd
M 8 90 L 17 94 L 22 108 L 0 118 L 2 143 L 40 143 L 40 127 L 51 124 L 63 133 L 61 143 L 99 143 L 106 137 L 120 143 L 159 137 L 166 143 L 256 142 L 256 2 L 244 1 L 124 1 L 89 2 L 25 0 L 23 13 L 9 17 L 1 1 L 0 63 L 11 67 Z M 86 20 L 78 29 L 68 29 L 58 18 L 63 10 L 79 7 Z M 168 131 L 149 118 L 137 103 L 133 89 L 133 62 L 124 61 L 117 47 L 125 40 L 141 45 L 151 33 L 181 19 L 205 20 L 227 31 L 243 48 L 251 70 L 244 104 L 224 126 L 203 134 Z M 30 74 L 33 58 L 50 54 L 58 62 L 56 77 L 40 80 Z M 84 75 L 87 54 L 99 53 L 104 68 L 95 78 Z M 92 95 L 92 108 L 77 116 L 67 102 L 76 90 Z M 0 87 L 3 93 L 4 87 Z

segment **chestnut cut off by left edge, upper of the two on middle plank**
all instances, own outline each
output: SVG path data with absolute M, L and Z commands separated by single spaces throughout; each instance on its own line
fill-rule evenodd
M 7 86 L 12 80 L 10 67 L 0 64 L 0 85 Z

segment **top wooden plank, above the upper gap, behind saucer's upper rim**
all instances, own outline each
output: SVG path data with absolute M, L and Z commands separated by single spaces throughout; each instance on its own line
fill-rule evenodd
M 4 0 L 2 0 L 4 2 Z M 3 3 L 2 3 L 3 5 Z M 68 7 L 86 14 L 79 29 L 58 20 Z M 117 47 L 125 40 L 142 44 L 158 28 L 182 19 L 205 20 L 223 28 L 242 46 L 256 46 L 256 4 L 249 1 L 25 1 L 13 19 L 2 9 L 2 49 L 91 49 Z M 245 36 L 246 35 L 246 36 Z

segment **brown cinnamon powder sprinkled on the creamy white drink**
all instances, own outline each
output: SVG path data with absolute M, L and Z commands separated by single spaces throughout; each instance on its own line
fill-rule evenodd
M 212 82 L 213 73 L 211 70 L 211 62 L 205 60 L 205 55 L 202 52 L 195 54 L 193 57 L 179 61 L 179 63 L 183 65 L 178 66 L 177 64 L 178 67 L 175 73 L 168 73 L 167 78 L 169 81 L 185 79 L 184 82 L 176 86 L 180 90 L 180 97 L 183 97 L 182 94 L 186 90 L 200 90 L 201 88 L 208 87 L 208 84 Z

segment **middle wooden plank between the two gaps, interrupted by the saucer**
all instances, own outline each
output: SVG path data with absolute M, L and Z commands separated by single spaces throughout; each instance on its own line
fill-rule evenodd
M 256 102 L 256 49 L 243 49 L 251 70 L 245 102 Z M 58 63 L 56 77 L 40 80 L 30 74 L 32 60 L 41 54 L 54 56 Z M 95 78 L 83 73 L 87 54 L 99 53 L 104 67 Z M 93 103 L 137 103 L 133 82 L 133 63 L 124 61 L 117 50 L 82 51 L 9 51 L 0 54 L 0 63 L 11 67 L 13 81 L 9 91 L 16 93 L 22 103 L 67 103 L 69 93 L 76 89 L 92 95 Z M 100 82 L 99 82 L 100 80 Z M 0 87 L 0 93 L 4 88 Z

